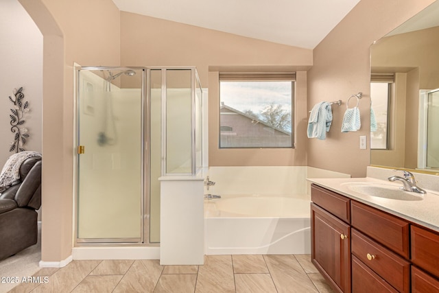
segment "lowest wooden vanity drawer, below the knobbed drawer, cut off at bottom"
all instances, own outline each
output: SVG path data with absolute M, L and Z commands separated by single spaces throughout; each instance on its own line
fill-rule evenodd
M 372 293 L 372 292 L 398 292 L 389 285 L 378 274 L 370 270 L 357 257 L 352 256 L 352 292 Z

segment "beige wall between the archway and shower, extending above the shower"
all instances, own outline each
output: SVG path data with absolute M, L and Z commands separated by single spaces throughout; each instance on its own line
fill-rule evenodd
M 119 10 L 110 0 L 19 0 L 43 34 L 42 260 L 71 255 L 73 62 L 119 65 Z

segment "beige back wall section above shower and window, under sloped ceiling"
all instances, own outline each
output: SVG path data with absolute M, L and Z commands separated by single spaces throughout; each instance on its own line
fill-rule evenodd
M 121 64 L 195 66 L 207 87 L 209 67 L 309 67 L 312 50 L 121 12 Z

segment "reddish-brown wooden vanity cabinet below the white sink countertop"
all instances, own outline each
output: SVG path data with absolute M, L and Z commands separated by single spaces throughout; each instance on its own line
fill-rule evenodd
M 439 292 L 439 233 L 314 184 L 311 201 L 311 260 L 337 292 Z

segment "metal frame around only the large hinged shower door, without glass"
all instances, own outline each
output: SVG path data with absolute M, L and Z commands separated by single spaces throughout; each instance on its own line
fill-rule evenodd
M 75 74 L 73 75 L 75 78 L 75 107 L 74 107 L 74 119 L 73 121 L 75 131 L 74 131 L 74 183 L 73 183 L 73 194 L 74 194 L 74 204 L 73 204 L 73 215 L 75 217 L 73 223 L 73 233 L 74 233 L 74 246 L 90 246 L 90 245 L 105 245 L 105 246 L 120 246 L 120 245 L 130 245 L 130 246 L 158 246 L 158 244 L 150 243 L 150 213 L 149 213 L 149 201 L 147 199 L 150 198 L 149 185 L 150 185 L 150 177 L 145 176 L 146 174 L 150 174 L 150 115 L 147 115 L 150 110 L 149 102 L 147 101 L 146 95 L 146 67 L 82 67 L 80 65 L 76 65 L 73 68 Z M 79 117 L 79 109 L 80 109 L 80 71 L 104 71 L 104 70 L 134 70 L 134 71 L 142 71 L 141 78 L 141 194 L 139 195 L 141 198 L 141 211 L 140 211 L 140 237 L 118 237 L 118 238 L 79 238 L 78 237 L 78 197 L 79 197 L 79 165 L 80 165 L 80 154 L 76 152 L 80 145 L 80 117 Z M 145 147 L 146 146 L 146 147 Z

